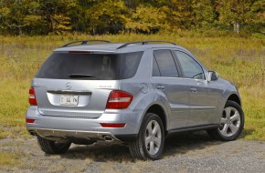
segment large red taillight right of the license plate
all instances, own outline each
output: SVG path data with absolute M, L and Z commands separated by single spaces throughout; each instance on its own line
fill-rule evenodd
M 133 96 L 124 91 L 111 91 L 106 108 L 122 109 L 127 108 L 132 103 Z

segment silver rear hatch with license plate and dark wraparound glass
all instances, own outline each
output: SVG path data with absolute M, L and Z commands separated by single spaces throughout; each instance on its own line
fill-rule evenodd
M 54 52 L 33 81 L 38 112 L 52 117 L 101 117 L 111 91 L 119 89 L 120 79 L 135 75 L 142 54 Z

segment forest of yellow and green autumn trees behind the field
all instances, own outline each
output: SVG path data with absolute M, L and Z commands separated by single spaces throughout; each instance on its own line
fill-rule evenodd
M 1 0 L 0 35 L 265 32 L 264 0 Z

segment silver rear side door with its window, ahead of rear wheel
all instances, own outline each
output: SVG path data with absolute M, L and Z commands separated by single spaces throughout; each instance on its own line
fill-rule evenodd
M 152 82 L 170 111 L 170 128 L 185 127 L 189 116 L 188 90 L 182 85 L 173 53 L 169 49 L 154 50 Z

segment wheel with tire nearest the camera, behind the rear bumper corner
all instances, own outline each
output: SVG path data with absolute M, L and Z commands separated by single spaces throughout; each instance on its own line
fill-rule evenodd
M 147 113 L 137 138 L 129 142 L 133 158 L 156 160 L 161 158 L 164 148 L 164 125 L 160 117 Z

